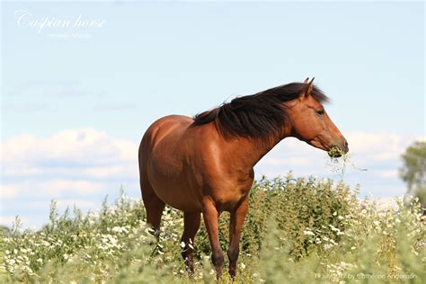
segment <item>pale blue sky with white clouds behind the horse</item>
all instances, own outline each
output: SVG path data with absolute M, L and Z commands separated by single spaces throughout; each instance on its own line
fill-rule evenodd
M 40 226 L 49 200 L 99 207 L 138 197 L 136 150 L 151 122 L 315 76 L 361 193 L 404 193 L 399 155 L 425 136 L 423 3 L 3 3 L 2 222 Z M 18 24 L 82 15 L 100 28 Z M 58 39 L 58 35 L 88 35 Z M 350 139 L 351 138 L 351 139 Z M 257 173 L 330 172 L 291 139 Z M 259 176 L 259 175 L 258 175 Z M 85 189 L 85 190 L 84 190 Z M 364 189 L 364 190 L 362 190 Z M 40 193 L 41 192 L 41 193 Z M 26 222 L 25 222 L 26 221 Z

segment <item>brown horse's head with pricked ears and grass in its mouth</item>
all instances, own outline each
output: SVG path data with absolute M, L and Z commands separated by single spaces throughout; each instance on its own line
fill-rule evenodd
M 327 151 L 332 157 L 339 157 L 349 151 L 348 142 L 324 110 L 323 104 L 315 99 L 313 81 L 306 79 L 306 88 L 297 100 L 288 102 L 292 136 Z

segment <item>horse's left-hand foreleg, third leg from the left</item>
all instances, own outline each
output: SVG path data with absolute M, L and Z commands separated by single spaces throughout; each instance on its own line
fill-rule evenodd
M 206 200 L 203 204 L 202 216 L 206 225 L 209 241 L 211 245 L 211 260 L 216 268 L 217 279 L 222 276 L 222 266 L 224 264 L 224 253 L 219 243 L 218 222 L 219 213 L 211 200 Z

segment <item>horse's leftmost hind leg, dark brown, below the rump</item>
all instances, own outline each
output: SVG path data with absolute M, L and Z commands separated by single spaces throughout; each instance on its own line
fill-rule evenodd
M 156 238 L 160 235 L 161 216 L 163 214 L 164 202 L 156 196 L 153 188 L 148 182 L 140 182 L 142 200 L 146 209 L 146 223 L 154 229 Z

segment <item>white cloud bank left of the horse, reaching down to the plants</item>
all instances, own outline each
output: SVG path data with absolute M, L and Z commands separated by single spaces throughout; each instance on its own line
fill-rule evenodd
M 69 129 L 40 138 L 25 134 L 2 143 L 2 216 L 20 215 L 40 226 L 50 200 L 58 207 L 100 207 L 120 185 L 140 196 L 138 143 L 95 129 Z M 2 224 L 10 225 L 10 218 Z

